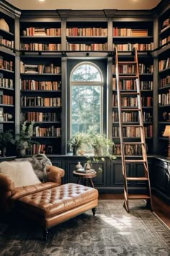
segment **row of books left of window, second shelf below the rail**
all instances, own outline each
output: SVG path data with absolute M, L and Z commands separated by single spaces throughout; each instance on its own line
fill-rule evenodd
M 61 81 L 22 80 L 21 90 L 61 90 Z

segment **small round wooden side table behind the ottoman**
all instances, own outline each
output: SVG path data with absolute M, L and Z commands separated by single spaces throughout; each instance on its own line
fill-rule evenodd
M 77 171 L 73 171 L 73 176 L 78 177 L 78 180 L 77 180 L 78 184 L 82 182 L 85 186 L 88 186 L 88 182 L 89 182 L 91 187 L 94 187 L 92 179 L 97 176 L 97 172 L 93 171 L 89 174 L 83 174 Z

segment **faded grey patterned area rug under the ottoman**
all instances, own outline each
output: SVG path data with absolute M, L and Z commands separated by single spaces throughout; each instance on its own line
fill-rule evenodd
M 143 200 L 99 200 L 91 210 L 50 229 L 48 242 L 27 221 L 0 223 L 0 255 L 14 256 L 169 256 L 170 230 Z

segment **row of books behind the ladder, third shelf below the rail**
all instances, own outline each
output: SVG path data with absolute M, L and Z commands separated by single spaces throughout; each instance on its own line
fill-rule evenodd
M 153 106 L 153 98 L 151 96 L 143 96 L 141 97 L 141 103 L 142 106 Z M 118 106 L 117 103 L 117 95 L 113 94 L 112 95 L 112 106 Z M 135 107 L 138 106 L 138 101 L 136 97 L 122 97 L 121 98 L 121 106 L 130 106 L 130 107 Z

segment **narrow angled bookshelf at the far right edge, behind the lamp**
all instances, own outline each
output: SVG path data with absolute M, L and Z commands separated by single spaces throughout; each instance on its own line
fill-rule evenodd
M 161 12 L 158 19 L 158 142 L 160 152 L 166 155 L 168 138 L 163 137 L 164 128 L 170 125 L 170 8 Z

